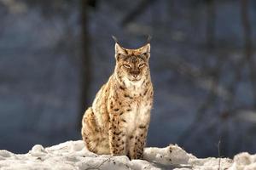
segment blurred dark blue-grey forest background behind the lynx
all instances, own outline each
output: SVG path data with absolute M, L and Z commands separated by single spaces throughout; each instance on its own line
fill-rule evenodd
M 0 149 L 81 139 L 114 42 L 151 41 L 148 146 L 256 152 L 256 1 L 0 0 Z

